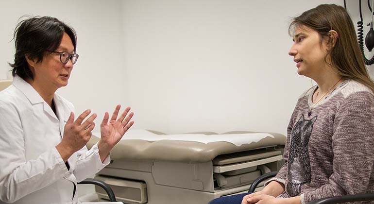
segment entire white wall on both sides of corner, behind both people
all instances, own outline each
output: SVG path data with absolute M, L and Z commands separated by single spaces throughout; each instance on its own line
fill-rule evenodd
M 133 107 L 134 128 L 286 134 L 296 99 L 311 84 L 288 55 L 288 25 L 320 3 L 343 0 L 2 1 L 0 79 L 13 62 L 18 18 L 50 15 L 78 33 L 80 58 L 59 93 L 76 112 L 97 112 L 97 123 L 121 103 Z M 356 24 L 358 1 L 347 5 Z M 366 2 L 363 12 L 366 24 Z

